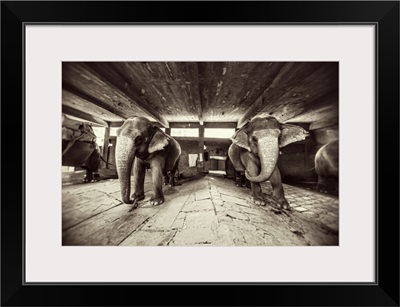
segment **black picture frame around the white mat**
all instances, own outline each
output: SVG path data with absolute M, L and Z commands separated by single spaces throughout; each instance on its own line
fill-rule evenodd
M 376 25 L 376 283 L 25 284 L 23 41 L 33 22 Z M 1 75 L 2 306 L 399 306 L 398 1 L 3 1 Z

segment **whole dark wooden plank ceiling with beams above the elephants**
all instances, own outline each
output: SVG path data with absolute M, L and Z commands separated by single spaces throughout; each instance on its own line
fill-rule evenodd
M 63 112 L 107 125 L 144 116 L 236 122 L 257 115 L 338 123 L 337 62 L 63 62 Z

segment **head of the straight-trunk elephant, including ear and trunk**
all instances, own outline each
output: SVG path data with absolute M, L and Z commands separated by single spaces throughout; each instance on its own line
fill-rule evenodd
M 168 135 L 144 117 L 129 118 L 118 129 L 115 158 L 124 203 L 133 202 L 130 190 L 135 158 L 146 160 L 151 153 L 163 150 L 169 142 Z

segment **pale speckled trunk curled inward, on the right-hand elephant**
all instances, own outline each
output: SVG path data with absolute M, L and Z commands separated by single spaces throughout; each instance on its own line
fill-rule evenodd
M 278 138 L 274 136 L 268 136 L 258 141 L 258 156 L 261 163 L 261 172 L 258 176 L 251 177 L 246 171 L 245 175 L 249 181 L 252 182 L 263 182 L 271 177 L 279 155 Z

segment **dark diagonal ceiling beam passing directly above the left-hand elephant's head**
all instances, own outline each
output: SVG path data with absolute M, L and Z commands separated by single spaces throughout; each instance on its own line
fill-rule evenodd
M 163 127 L 169 127 L 168 121 L 165 120 L 156 110 L 152 109 L 151 106 L 145 107 L 146 105 L 149 105 L 149 103 L 141 97 L 140 93 L 135 93 L 129 86 L 127 86 L 124 76 L 120 75 L 120 73 L 117 70 L 114 70 L 112 66 L 107 66 L 105 69 L 101 66 L 101 63 L 100 65 L 97 65 L 97 63 L 85 63 L 82 65 L 88 74 L 95 75 L 98 79 L 112 87 L 113 90 L 126 96 L 136 105 L 137 108 L 154 118 Z M 112 74 L 109 73 L 111 70 Z

